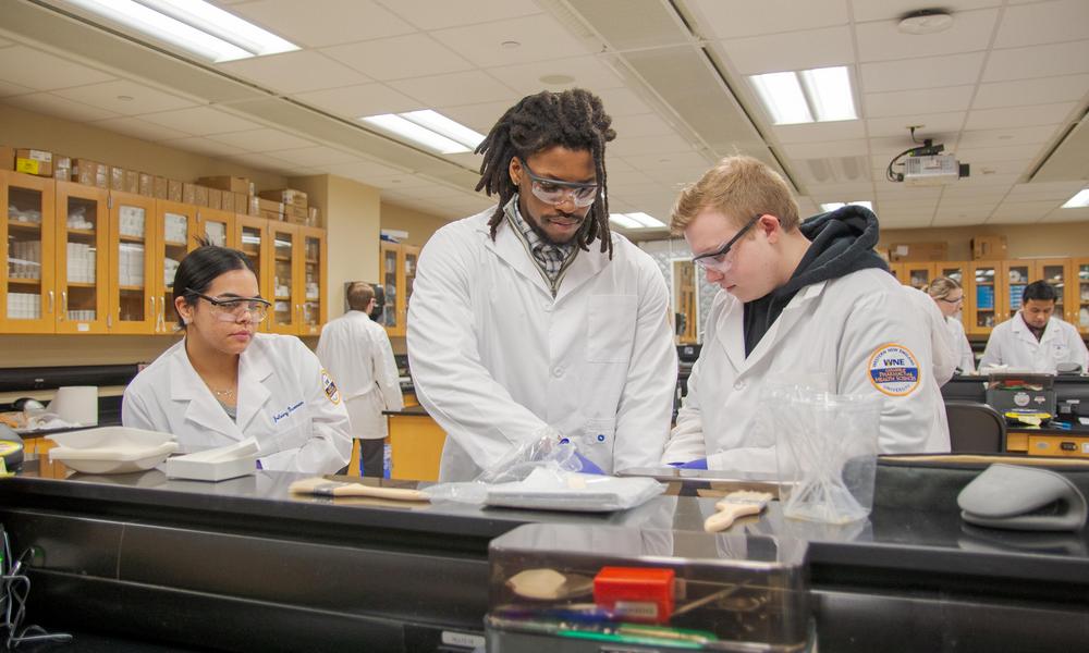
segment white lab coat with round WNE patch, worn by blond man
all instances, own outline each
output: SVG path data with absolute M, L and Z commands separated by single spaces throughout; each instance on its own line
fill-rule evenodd
M 884 397 L 878 452 L 949 452 L 949 424 L 930 360 L 930 333 L 888 272 L 868 269 L 803 287 L 745 357 L 744 305 L 720 291 L 663 463 L 707 458 L 711 469 L 776 472 L 775 435 L 757 428 L 769 384 L 827 382 L 837 394 Z M 888 396 L 871 381 L 874 355 L 894 343 L 918 381 Z

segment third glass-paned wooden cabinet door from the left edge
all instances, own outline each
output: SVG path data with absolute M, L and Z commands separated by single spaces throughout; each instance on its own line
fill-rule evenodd
M 159 300 L 155 279 L 155 199 L 110 193 L 110 333 L 155 333 Z

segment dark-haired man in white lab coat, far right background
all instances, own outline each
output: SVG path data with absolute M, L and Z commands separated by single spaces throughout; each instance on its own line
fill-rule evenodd
M 1070 323 L 1054 317 L 1059 295 L 1047 281 L 1033 281 L 1021 293 L 1021 308 L 991 330 L 979 370 L 1004 365 L 1012 369 L 1054 372 L 1061 362 L 1089 369 L 1089 350 Z

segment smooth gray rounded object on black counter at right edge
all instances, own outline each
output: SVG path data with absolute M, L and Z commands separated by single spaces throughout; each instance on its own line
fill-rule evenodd
M 960 517 L 1013 530 L 1080 530 L 1086 497 L 1066 477 L 1035 467 L 991 465 L 957 496 Z

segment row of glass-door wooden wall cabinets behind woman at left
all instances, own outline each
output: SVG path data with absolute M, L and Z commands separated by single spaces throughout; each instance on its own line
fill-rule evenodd
M 243 249 L 262 296 L 286 297 L 262 331 L 326 321 L 321 229 L 11 171 L 0 202 L 0 333 L 174 334 L 174 275 L 201 243 Z

